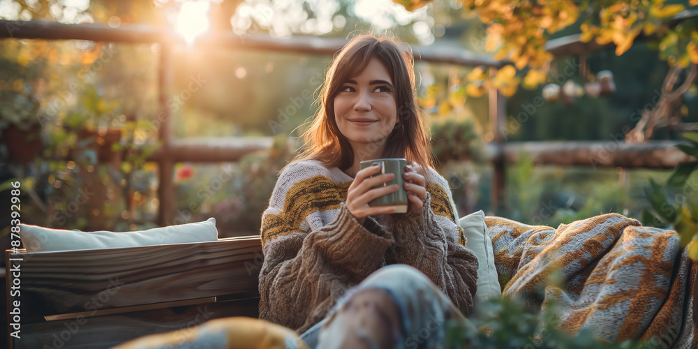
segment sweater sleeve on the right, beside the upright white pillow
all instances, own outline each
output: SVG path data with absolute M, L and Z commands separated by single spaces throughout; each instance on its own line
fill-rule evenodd
M 437 181 L 431 184 L 424 207 L 392 218 L 396 240 L 393 258 L 429 276 L 467 315 L 473 310 L 477 290 L 477 256 L 464 241 L 459 242 L 462 230 L 447 182 L 438 174 L 433 177 Z

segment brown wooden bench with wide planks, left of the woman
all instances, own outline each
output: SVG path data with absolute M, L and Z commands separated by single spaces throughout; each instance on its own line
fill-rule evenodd
M 259 236 L 105 250 L 7 250 L 8 348 L 110 348 L 214 318 L 257 318 L 262 261 Z M 12 325 L 17 319 L 19 325 Z

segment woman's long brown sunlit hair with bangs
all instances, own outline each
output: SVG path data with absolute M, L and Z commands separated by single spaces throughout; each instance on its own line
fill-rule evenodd
M 414 58 L 389 36 L 355 36 L 335 55 L 315 102 L 320 106 L 318 112 L 303 134 L 304 151 L 292 162 L 317 160 L 327 168 L 351 167 L 354 151 L 337 127 L 334 98 L 343 83 L 360 75 L 374 57 L 390 74 L 397 106 L 396 128 L 387 137 L 383 158 L 406 158 L 408 163 L 419 165 L 419 172 L 429 181 L 433 157 L 415 96 Z

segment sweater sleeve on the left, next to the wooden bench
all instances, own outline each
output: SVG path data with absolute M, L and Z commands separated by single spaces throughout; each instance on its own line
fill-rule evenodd
M 294 188 L 303 185 L 293 180 L 294 170 L 298 166 L 281 174 L 262 216 L 260 318 L 303 332 L 327 315 L 347 285 L 382 267 L 394 239 L 372 220 L 359 224 L 341 201 L 336 202 L 339 214 L 334 221 L 308 228 L 309 212 L 318 208 L 313 205 L 316 200 L 307 197 L 311 190 Z M 332 184 L 325 179 L 326 186 Z M 308 180 L 313 185 L 322 181 Z M 330 200 L 323 199 L 323 205 Z

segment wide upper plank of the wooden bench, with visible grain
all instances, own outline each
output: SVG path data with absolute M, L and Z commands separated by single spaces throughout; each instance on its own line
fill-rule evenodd
M 184 299 L 258 295 L 263 258 L 259 237 L 105 250 L 9 253 L 8 257 L 23 259 L 23 320 Z M 8 274 L 8 284 L 12 283 L 13 276 Z

